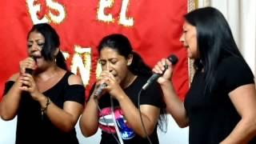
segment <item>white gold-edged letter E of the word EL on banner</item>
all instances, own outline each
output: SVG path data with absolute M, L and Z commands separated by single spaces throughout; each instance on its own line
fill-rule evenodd
M 100 0 L 97 10 L 97 18 L 103 22 L 114 22 L 114 18 L 111 14 L 105 14 L 104 10 L 107 7 L 112 7 L 114 0 Z

